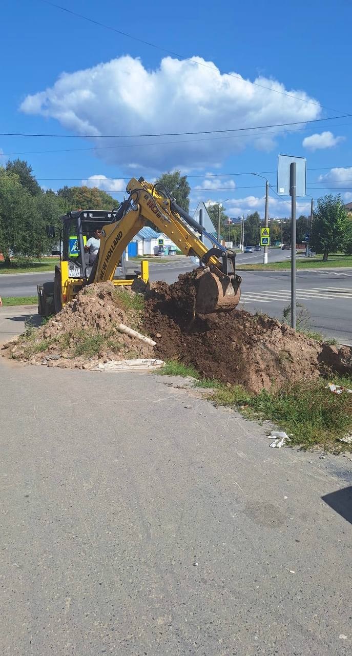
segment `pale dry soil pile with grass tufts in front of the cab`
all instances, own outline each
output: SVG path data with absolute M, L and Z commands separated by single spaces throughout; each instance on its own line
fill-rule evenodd
M 124 323 L 142 331 L 138 303 L 132 297 L 136 295 L 130 287 L 116 289 L 111 282 L 89 285 L 45 325 L 9 344 L 7 354 L 29 363 L 83 369 L 109 359 L 151 358 L 152 346 L 116 329 Z

